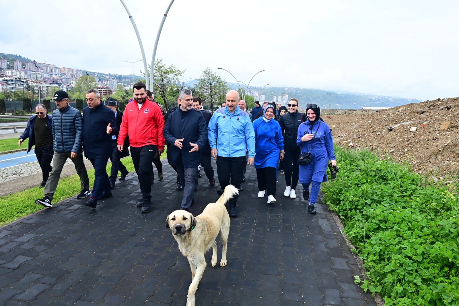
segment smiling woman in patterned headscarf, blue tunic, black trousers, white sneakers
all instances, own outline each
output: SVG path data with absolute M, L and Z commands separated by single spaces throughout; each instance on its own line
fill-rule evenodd
M 268 194 L 268 204 L 276 199 L 276 167 L 284 158 L 284 137 L 279 123 L 274 120 L 274 106 L 267 104 L 263 116 L 253 121 L 255 130 L 255 169 L 257 170 L 258 198 Z

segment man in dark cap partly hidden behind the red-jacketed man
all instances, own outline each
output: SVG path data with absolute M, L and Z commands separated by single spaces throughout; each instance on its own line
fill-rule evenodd
M 119 127 L 121 125 L 121 122 L 123 122 L 123 112 L 120 112 L 118 110 L 118 102 L 116 102 L 115 99 L 109 96 L 107 100 L 104 102 L 104 105 L 107 108 L 110 108 L 112 112 L 115 114 L 116 124 Z M 123 163 L 121 162 L 121 159 L 123 157 L 129 156 L 129 137 L 126 137 L 126 139 L 124 140 L 123 152 L 119 152 L 117 147 L 119 131 L 117 133 L 112 134 L 112 156 L 110 156 L 110 161 L 112 162 L 112 169 L 110 170 L 110 177 L 108 178 L 110 181 L 111 188 L 115 187 L 115 181 L 116 177 L 118 176 L 118 171 L 121 171 L 121 176 L 119 178 L 120 181 L 123 181 L 129 174 L 128 169 L 126 169 L 126 166 L 123 165 Z

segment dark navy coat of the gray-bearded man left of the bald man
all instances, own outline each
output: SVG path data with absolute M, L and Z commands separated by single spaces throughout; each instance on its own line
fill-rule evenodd
M 169 113 L 166 125 L 162 131 L 164 139 L 169 144 L 168 154 L 170 164 L 177 165 L 180 157 L 185 168 L 193 168 L 201 164 L 202 150 L 207 143 L 207 125 L 201 111 L 191 108 L 189 111 L 182 111 L 181 108 Z M 177 139 L 184 138 L 180 149 L 174 145 Z M 191 143 L 199 147 L 197 152 L 191 152 Z

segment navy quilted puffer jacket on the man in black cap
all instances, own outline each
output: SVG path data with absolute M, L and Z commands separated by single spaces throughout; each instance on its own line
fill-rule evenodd
M 67 105 L 53 111 L 53 150 L 81 154 L 83 117 L 78 109 Z

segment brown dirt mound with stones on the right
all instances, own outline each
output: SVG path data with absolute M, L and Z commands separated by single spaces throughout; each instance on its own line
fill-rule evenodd
M 436 176 L 459 172 L 459 97 L 325 118 L 341 147 L 366 147 Z

